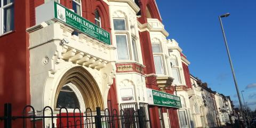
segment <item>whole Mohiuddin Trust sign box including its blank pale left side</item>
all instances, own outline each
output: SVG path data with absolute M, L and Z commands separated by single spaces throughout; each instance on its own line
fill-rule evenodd
M 59 3 L 51 1 L 36 7 L 36 23 L 38 24 L 48 20 L 58 20 L 100 42 L 108 45 L 111 44 L 108 31 L 94 25 L 94 23 L 84 19 Z

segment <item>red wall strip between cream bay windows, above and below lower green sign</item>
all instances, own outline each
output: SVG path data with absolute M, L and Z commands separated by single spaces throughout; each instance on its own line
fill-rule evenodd
M 138 19 L 140 23 L 142 24 L 147 23 L 146 8 L 148 8 L 151 18 L 158 19 L 159 21 L 162 22 L 162 19 L 157 9 L 157 5 L 154 0 L 140 0 L 139 7 L 141 10 L 141 17 Z M 142 47 L 141 53 L 142 53 L 143 63 L 146 66 L 145 74 L 156 74 L 149 31 L 139 32 L 139 35 L 140 35 L 140 45 Z M 146 87 L 154 90 L 159 90 L 156 83 L 155 75 L 146 77 Z M 166 92 L 173 94 L 173 89 L 172 90 L 166 89 Z M 166 112 L 166 109 L 169 110 L 169 117 L 170 117 L 169 119 L 170 119 L 171 127 L 179 127 L 177 109 L 158 107 L 158 106 L 149 106 L 151 127 L 161 127 L 161 124 L 160 124 L 161 121 L 159 120 L 159 113 L 158 113 L 159 108 L 162 109 L 162 112 Z

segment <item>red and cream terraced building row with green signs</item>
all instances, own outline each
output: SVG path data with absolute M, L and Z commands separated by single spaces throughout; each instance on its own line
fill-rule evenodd
M 0 16 L 0 127 L 217 126 L 155 0 L 0 0 Z

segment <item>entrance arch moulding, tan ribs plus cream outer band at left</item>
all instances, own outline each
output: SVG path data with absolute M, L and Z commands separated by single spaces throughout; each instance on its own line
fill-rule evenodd
M 56 110 L 56 102 L 62 86 L 72 83 L 83 95 L 85 107 L 104 109 L 102 94 L 93 76 L 82 66 L 70 66 L 48 77 L 44 87 L 44 106 Z

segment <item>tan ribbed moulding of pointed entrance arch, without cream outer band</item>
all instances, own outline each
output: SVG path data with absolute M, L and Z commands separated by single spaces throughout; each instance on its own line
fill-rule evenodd
M 87 71 L 82 66 L 77 66 L 69 69 L 60 79 L 55 94 L 55 109 L 59 108 L 59 104 L 57 101 L 59 96 L 62 95 L 61 93 L 63 93 L 63 90 L 74 91 L 68 89 L 67 85 L 70 84 L 74 85 L 76 89 L 79 90 L 79 93 L 82 95 L 82 98 L 80 99 L 84 99 L 83 101 L 80 100 L 79 102 L 82 102 L 81 104 L 84 104 L 86 108 L 91 108 L 93 111 L 96 110 L 96 107 L 104 109 L 102 95 L 97 82 L 89 73 L 89 71 Z

